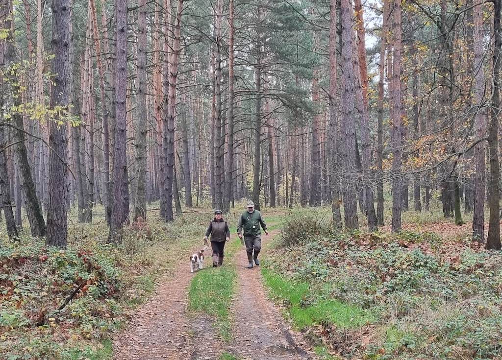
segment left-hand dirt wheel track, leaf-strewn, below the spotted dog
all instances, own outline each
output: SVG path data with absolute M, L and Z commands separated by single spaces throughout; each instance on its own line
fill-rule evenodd
M 160 280 L 154 296 L 114 339 L 114 360 L 218 358 L 221 341 L 216 338 L 210 319 L 190 318 L 187 314 L 192 277 L 188 261 L 179 261 L 174 274 Z

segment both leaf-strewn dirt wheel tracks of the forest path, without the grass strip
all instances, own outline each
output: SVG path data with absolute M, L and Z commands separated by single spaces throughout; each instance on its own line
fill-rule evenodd
M 279 232 L 271 232 L 270 237 Z M 267 239 L 264 239 L 267 241 Z M 128 328 L 113 341 L 114 360 L 218 360 L 222 352 L 239 360 L 303 360 L 315 358 L 304 349 L 280 310 L 267 299 L 260 267 L 246 269 L 244 247 L 233 262 L 238 274 L 231 343 L 217 338 L 211 320 L 187 313 L 188 286 L 193 274 L 180 261 L 174 274 L 160 280 L 154 296 L 141 306 Z M 210 251 L 205 266 L 210 264 Z

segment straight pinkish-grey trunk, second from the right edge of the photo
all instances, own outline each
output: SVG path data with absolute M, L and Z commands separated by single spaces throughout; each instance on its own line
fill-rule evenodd
M 482 106 L 485 92 L 483 71 L 483 2 L 475 0 L 474 7 L 474 104 L 476 111 L 476 136 L 481 139 L 486 134 L 486 110 Z M 474 214 L 472 220 L 472 239 L 484 243 L 484 199 L 486 183 L 486 158 L 484 141 L 474 147 L 476 171 L 474 173 Z

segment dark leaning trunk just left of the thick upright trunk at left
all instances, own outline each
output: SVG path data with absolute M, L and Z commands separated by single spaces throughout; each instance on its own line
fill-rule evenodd
M 12 3 L 9 1 L 6 7 L 8 14 L 12 13 Z M 8 20 L 11 24 L 12 17 L 9 16 Z M 12 29 L 12 27 L 6 26 L 6 29 Z M 14 48 L 14 32 L 9 32 L 7 39 L 5 40 L 7 44 L 7 53 L 5 62 L 6 64 L 16 62 L 16 50 Z M 4 73 L 5 75 L 6 73 Z M 13 105 L 18 107 L 22 104 L 21 101 L 21 89 L 20 82 L 17 79 L 10 79 L 11 81 L 11 93 L 13 94 Z M 24 194 L 24 204 L 26 214 L 28 215 L 28 221 L 30 223 L 31 234 L 36 237 L 43 237 L 46 235 L 46 226 L 44 221 L 44 216 L 42 214 L 42 207 L 40 206 L 40 201 L 37 197 L 37 192 L 35 188 L 35 183 L 33 182 L 32 171 L 30 168 L 30 162 L 28 160 L 28 151 L 26 149 L 26 135 L 23 124 L 23 116 L 17 112 L 12 115 L 12 125 L 14 127 L 13 132 L 13 143 L 15 143 L 16 158 L 18 160 L 18 169 L 20 173 L 21 188 Z

